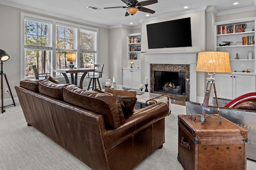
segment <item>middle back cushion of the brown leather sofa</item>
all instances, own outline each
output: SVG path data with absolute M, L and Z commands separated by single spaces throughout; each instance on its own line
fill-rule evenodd
M 56 84 L 46 79 L 39 82 L 38 88 L 41 94 L 63 100 L 62 89 L 67 85 L 68 84 Z

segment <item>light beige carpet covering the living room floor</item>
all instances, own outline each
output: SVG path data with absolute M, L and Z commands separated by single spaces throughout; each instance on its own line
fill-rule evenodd
M 28 127 L 20 105 L 5 109 L 0 114 L 0 170 L 90 170 L 34 127 Z M 177 160 L 177 115 L 186 114 L 186 108 L 172 104 L 171 109 L 166 117 L 164 147 L 150 154 L 135 170 L 183 170 Z M 256 162 L 247 160 L 247 170 L 255 167 Z

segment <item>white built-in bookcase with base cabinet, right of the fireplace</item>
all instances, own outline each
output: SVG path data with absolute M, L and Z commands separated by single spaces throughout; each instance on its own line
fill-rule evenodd
M 230 67 L 232 70 L 232 74 L 215 74 L 218 98 L 234 99 L 242 94 L 255 92 L 256 90 L 255 43 L 250 44 L 247 42 L 246 45 L 237 45 L 237 42 L 243 41 L 243 37 L 254 37 L 255 39 L 255 21 L 256 18 L 246 18 L 214 23 L 215 50 L 229 53 Z M 245 28 L 252 28 L 252 31 L 235 31 L 237 25 L 241 27 L 245 25 Z M 233 28 L 233 30 L 228 31 L 230 28 Z M 225 44 L 225 42 L 222 41 L 230 42 L 230 45 L 221 46 Z M 248 57 L 248 51 L 252 51 L 251 59 Z M 236 54 L 238 54 L 239 59 L 235 59 Z M 250 72 L 242 72 L 246 68 L 248 68 Z

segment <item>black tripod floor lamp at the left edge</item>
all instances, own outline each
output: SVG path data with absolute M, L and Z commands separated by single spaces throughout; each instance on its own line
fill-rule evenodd
M 3 61 L 7 61 L 9 59 L 9 55 L 4 51 L 4 50 L 0 50 L 0 61 L 1 61 L 1 94 L 2 94 L 2 106 L 1 106 L 1 109 L 2 109 L 2 113 L 5 112 L 4 110 L 4 90 L 3 90 L 3 76 L 5 77 L 5 80 L 6 80 L 6 83 L 7 83 L 7 86 L 9 88 L 9 92 L 10 92 L 10 95 L 12 96 L 12 91 L 10 89 L 10 86 L 9 86 L 9 83 L 8 83 L 8 80 L 7 80 L 7 77 L 6 77 L 6 74 L 3 72 Z M 14 102 L 14 99 L 13 99 L 13 96 L 12 96 L 12 102 L 13 102 L 13 105 L 15 105 L 15 102 Z

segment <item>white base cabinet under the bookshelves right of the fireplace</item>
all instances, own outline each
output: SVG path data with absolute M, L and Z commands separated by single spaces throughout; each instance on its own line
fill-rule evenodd
M 218 98 L 234 99 L 243 94 L 255 92 L 255 75 L 215 74 Z

